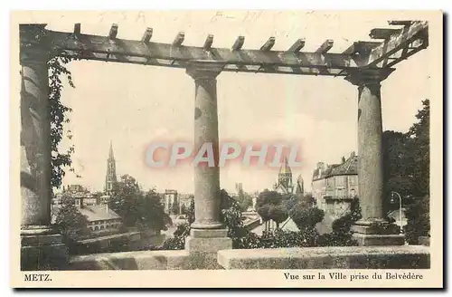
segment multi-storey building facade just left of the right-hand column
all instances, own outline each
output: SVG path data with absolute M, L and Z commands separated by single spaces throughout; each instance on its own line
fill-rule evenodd
M 325 216 L 336 219 L 350 211 L 354 197 L 359 196 L 358 156 L 354 152 L 342 164 L 317 163 L 312 179 L 315 206 Z

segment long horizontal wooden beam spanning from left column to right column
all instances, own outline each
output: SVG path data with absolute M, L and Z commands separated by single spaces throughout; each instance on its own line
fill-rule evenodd
M 235 65 L 266 65 L 280 67 L 325 67 L 330 69 L 351 69 L 356 68 L 356 62 L 349 55 L 341 53 L 289 53 L 285 51 L 241 50 L 231 51 L 227 48 L 212 48 L 206 52 L 202 46 L 184 46 L 184 51 L 174 51 L 171 43 L 155 43 L 152 40 L 142 43 L 141 40 L 117 39 L 115 43 L 105 43 L 105 37 L 98 35 L 83 34 L 83 38 L 76 39 L 71 33 L 46 31 L 52 45 L 62 51 L 72 51 L 74 53 L 99 53 L 99 61 L 106 61 L 102 58 L 107 53 L 110 54 L 109 61 L 116 61 L 113 56 L 129 56 L 130 59 L 144 61 L 148 58 L 161 59 L 165 61 L 188 62 L 193 60 L 214 61 L 221 64 Z M 33 38 L 33 34 L 23 34 L 22 39 Z M 24 40 L 26 42 L 26 40 Z M 89 60 L 89 56 L 87 56 Z M 104 59 L 104 60 L 101 60 Z M 136 62 L 141 63 L 141 62 Z M 174 67 L 182 67 L 179 63 L 174 63 Z M 279 67 L 279 69 L 280 69 Z M 274 73 L 278 73 L 278 68 Z

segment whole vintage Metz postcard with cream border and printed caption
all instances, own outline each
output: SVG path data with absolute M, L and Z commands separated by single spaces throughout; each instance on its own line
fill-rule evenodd
M 440 11 L 11 13 L 16 288 L 441 288 Z

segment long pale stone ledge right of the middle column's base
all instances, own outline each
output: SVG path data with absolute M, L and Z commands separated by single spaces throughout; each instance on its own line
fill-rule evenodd
M 429 268 L 428 246 L 329 246 L 223 250 L 224 269 L 414 269 Z

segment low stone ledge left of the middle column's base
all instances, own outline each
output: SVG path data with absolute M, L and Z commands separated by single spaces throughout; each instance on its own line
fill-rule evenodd
M 184 250 L 78 255 L 67 270 L 181 270 L 188 269 L 188 256 Z

